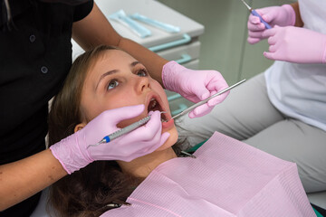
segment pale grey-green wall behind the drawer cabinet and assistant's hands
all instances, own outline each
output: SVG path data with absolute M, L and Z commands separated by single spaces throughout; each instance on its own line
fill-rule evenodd
M 200 36 L 200 69 L 220 71 L 229 84 L 249 79 L 264 71 L 273 61 L 266 60 L 263 52 L 267 42 L 251 45 L 246 42 L 247 17 L 240 0 L 159 0 L 181 14 L 205 25 Z M 247 0 L 253 8 L 292 3 L 292 0 Z

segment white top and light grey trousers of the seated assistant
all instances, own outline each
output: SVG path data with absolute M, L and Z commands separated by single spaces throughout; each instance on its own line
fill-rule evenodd
M 326 34 L 326 1 L 299 5 L 303 28 Z M 189 146 L 218 131 L 295 162 L 307 193 L 326 191 L 326 64 L 275 61 L 231 90 L 210 114 L 184 116 L 177 124 Z

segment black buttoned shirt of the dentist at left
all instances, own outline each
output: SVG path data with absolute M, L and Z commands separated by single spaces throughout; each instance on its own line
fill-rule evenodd
M 0 4 L 0 165 L 45 149 L 48 101 L 72 65 L 72 23 L 89 14 L 93 2 L 72 6 L 9 0 L 9 4 L 11 31 Z M 14 206 L 0 216 L 29 216 L 38 197 L 30 199 L 34 204 Z

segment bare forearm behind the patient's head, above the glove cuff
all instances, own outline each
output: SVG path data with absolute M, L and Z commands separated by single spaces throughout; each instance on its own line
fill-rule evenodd
M 155 52 L 149 51 L 149 49 L 141 46 L 139 43 L 121 37 L 95 3 L 88 16 L 72 25 L 72 38 L 85 51 L 89 51 L 101 44 L 120 47 L 143 63 L 149 70 L 150 76 L 163 85 L 161 71 L 163 65 L 168 61 L 158 56 Z

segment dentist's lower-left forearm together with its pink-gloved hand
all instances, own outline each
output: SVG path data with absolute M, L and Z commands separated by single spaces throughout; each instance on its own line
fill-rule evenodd
M 64 175 L 72 174 L 95 160 L 131 161 L 156 150 L 169 137 L 168 133 L 161 135 L 158 111 L 151 115 L 146 125 L 129 134 L 116 138 L 110 144 L 88 148 L 118 130 L 116 125 L 121 120 L 137 117 L 143 110 L 144 105 L 106 110 L 50 149 L 11 164 L 0 165 L 0 211 L 24 201 Z

